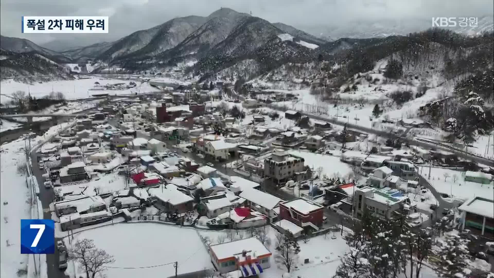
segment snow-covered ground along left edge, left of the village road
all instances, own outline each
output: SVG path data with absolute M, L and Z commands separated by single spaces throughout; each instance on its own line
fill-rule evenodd
M 64 123 L 62 125 L 65 126 Z M 45 133 L 53 135 L 60 126 L 51 127 Z M 34 147 L 43 139 L 31 139 Z M 17 166 L 24 164 L 24 138 L 0 146 L 0 277 L 17 277 L 27 270 L 28 256 L 20 254 L 20 219 L 30 219 L 31 198 L 26 176 L 17 172 Z

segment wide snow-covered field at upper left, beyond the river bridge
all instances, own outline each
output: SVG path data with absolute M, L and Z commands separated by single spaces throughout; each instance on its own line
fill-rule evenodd
M 66 99 L 88 98 L 92 94 L 109 93 L 115 94 L 133 94 L 133 93 L 149 93 L 158 91 L 158 89 L 151 87 L 148 82 L 137 84 L 137 87 L 125 89 L 125 90 L 97 90 L 94 89 L 95 82 L 98 82 L 101 86 L 107 84 L 125 83 L 128 85 L 128 80 L 107 79 L 103 77 L 93 77 L 88 79 L 76 79 L 76 80 L 60 80 L 49 81 L 43 83 L 25 84 L 13 80 L 2 81 L 0 83 L 0 101 L 8 102 L 11 100 L 8 96 L 16 91 L 24 91 L 26 94 L 31 93 L 32 96 L 43 97 L 51 92 L 62 92 Z

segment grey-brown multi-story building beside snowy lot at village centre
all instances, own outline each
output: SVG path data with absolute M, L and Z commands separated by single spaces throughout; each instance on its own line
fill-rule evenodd
M 264 160 L 264 176 L 271 178 L 277 184 L 286 183 L 297 172 L 304 171 L 304 161 L 302 157 L 276 151 Z

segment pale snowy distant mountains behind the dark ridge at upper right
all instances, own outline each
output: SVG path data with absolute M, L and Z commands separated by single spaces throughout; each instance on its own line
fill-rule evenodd
M 432 18 L 400 20 L 381 19 L 372 21 L 360 20 L 333 26 L 299 26 L 301 30 L 325 40 L 335 40 L 339 38 L 384 38 L 388 36 L 408 35 L 432 27 Z M 492 32 L 494 30 L 494 18 L 493 16 L 479 17 L 477 27 L 457 26 L 448 29 L 466 35 L 480 34 L 486 31 Z

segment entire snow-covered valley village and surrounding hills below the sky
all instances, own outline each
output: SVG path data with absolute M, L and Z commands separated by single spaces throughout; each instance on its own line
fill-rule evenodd
M 492 16 L 332 41 L 197 18 L 145 58 L 151 29 L 65 52 L 2 36 L 2 278 L 494 278 Z M 22 252 L 21 219 L 54 223 L 53 252 Z

